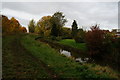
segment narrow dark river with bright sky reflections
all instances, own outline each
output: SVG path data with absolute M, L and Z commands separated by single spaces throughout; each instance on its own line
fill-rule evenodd
M 59 51 L 60 54 L 65 55 L 66 57 L 72 57 L 78 63 L 92 63 L 98 64 L 101 66 L 108 66 L 113 68 L 116 71 L 120 71 L 117 63 L 114 63 L 112 60 L 107 59 L 93 59 L 90 55 L 80 51 L 79 49 L 74 49 L 66 45 L 61 45 L 58 43 L 40 40 L 41 42 L 47 43 L 49 46 L 54 48 L 55 50 Z

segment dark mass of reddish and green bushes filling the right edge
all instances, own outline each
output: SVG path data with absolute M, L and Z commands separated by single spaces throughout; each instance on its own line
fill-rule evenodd
M 115 37 L 112 32 L 101 30 L 98 25 L 92 26 L 91 31 L 86 33 L 86 45 L 91 57 L 96 59 L 108 59 L 119 64 L 118 57 L 120 55 L 119 37 Z M 116 45 L 117 43 L 117 45 Z M 111 57 L 111 59 L 110 59 Z

